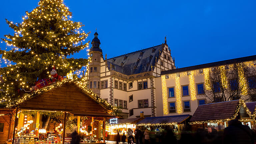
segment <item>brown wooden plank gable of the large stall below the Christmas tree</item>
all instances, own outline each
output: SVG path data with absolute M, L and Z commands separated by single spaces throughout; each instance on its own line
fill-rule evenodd
M 94 97 L 79 88 L 74 82 L 66 82 L 23 103 L 18 104 L 23 110 L 64 111 L 74 115 L 112 117 L 109 109 Z

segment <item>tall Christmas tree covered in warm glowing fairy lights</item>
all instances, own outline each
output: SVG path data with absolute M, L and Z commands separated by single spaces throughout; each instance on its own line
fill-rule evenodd
M 72 13 L 64 5 L 63 0 L 41 0 L 38 7 L 22 16 L 21 23 L 6 20 L 9 27 L 14 30 L 14 35 L 5 35 L 1 41 L 11 48 L 10 51 L 7 51 L 7 47 L 5 51 L 1 51 L 1 63 L 9 67 L 6 72 L 1 73 L 1 78 L 6 81 L 8 75 L 12 74 L 15 77 L 13 77 L 12 83 L 0 87 L 1 91 L 3 90 L 5 93 L 0 103 L 11 101 L 10 96 L 13 97 L 15 94 L 10 95 L 10 89 L 16 82 L 20 84 L 21 89 L 32 90 L 34 87 L 34 85 L 26 84 L 26 80 L 19 71 L 21 67 L 45 65 L 46 76 L 49 77 L 51 71 L 49 67 L 70 69 L 78 77 L 82 77 L 84 73 L 87 74 L 91 62 L 89 56 L 88 62 L 83 64 L 76 62 L 76 59 L 72 62 L 65 60 L 67 56 L 84 49 L 87 49 L 87 55 L 89 55 L 89 43 L 84 42 L 89 33 L 83 31 L 81 22 L 73 22 L 71 18 Z M 56 25 L 49 25 L 51 22 Z M 46 50 L 45 53 L 41 52 L 42 49 Z M 51 52 L 47 52 L 47 50 Z M 8 59 L 10 56 L 19 55 L 22 52 L 26 53 L 27 59 L 25 57 L 15 61 Z

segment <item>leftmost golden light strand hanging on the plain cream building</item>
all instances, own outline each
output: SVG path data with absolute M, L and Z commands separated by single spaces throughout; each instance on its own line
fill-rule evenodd
M 161 76 L 161 81 L 162 81 L 163 113 L 164 113 L 164 115 L 167 115 L 168 114 L 168 101 L 167 101 L 167 88 L 166 88 L 165 75 Z

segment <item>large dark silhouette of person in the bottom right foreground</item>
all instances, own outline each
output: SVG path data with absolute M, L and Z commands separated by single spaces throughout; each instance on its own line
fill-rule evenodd
M 224 129 L 224 144 L 254 144 L 255 132 L 238 120 L 230 120 Z

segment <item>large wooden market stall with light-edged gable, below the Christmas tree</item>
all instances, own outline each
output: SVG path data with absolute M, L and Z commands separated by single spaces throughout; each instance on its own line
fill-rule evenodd
M 75 80 L 43 87 L 10 102 L 9 106 L 15 108 L 17 117 L 13 127 L 14 144 L 68 144 L 71 138 L 66 125 L 74 120 L 77 132 L 83 136 L 81 143 L 105 143 L 106 119 L 115 117 L 111 105 Z M 63 116 L 63 121 L 49 118 L 43 122 L 44 113 Z

